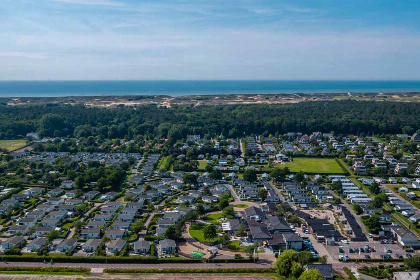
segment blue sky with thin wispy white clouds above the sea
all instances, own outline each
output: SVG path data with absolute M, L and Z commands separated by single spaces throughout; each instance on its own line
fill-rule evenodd
M 419 80 L 417 0 L 0 0 L 0 80 Z

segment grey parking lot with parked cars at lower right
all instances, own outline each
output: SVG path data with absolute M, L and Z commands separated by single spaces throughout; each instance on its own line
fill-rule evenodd
M 360 252 L 360 248 L 365 248 L 368 244 L 371 248 L 374 249 L 374 252 Z M 335 246 L 325 245 L 328 253 L 335 259 L 338 260 L 340 255 L 347 255 L 351 259 L 380 259 L 381 255 L 389 254 L 393 259 L 398 259 L 397 254 L 400 254 L 402 257 L 406 258 L 407 252 L 403 250 L 398 244 L 381 244 L 380 242 L 350 242 L 350 244 L 337 243 Z M 339 249 L 342 249 L 344 252 L 339 252 Z M 357 252 L 358 249 L 359 252 Z M 353 250 L 350 253 L 350 249 Z M 388 251 L 390 249 L 390 251 Z M 387 252 L 388 251 L 388 252 Z M 414 255 L 415 253 L 411 253 Z

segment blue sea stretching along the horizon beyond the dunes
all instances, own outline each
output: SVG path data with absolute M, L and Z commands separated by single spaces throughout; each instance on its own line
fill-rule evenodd
M 0 81 L 0 97 L 420 92 L 420 81 Z

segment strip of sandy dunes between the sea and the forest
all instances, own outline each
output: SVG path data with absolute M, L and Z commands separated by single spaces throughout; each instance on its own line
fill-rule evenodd
M 22 106 L 31 104 L 68 104 L 87 107 L 118 107 L 156 105 L 251 105 L 291 104 L 316 101 L 394 101 L 420 102 L 420 92 L 396 93 L 295 93 L 295 94 L 223 94 L 223 95 L 108 95 L 108 96 L 64 96 L 64 97 L 0 97 L 1 105 Z

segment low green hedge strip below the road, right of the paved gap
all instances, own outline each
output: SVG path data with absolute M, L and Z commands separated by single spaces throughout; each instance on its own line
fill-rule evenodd
M 105 273 L 275 273 L 275 268 L 106 268 Z

